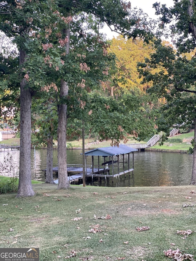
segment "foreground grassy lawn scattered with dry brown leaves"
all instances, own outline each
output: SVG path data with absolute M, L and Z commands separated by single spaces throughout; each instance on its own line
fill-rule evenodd
M 34 197 L 0 195 L 1 248 L 40 248 L 40 260 L 46 261 L 73 253 L 73 261 L 166 261 L 171 259 L 163 251 L 169 248 L 196 255 L 196 233 L 186 239 L 177 234 L 196 230 L 196 207 L 182 207 L 195 204 L 196 193 L 190 192 L 196 186 L 33 188 Z M 142 226 L 149 229 L 139 232 Z

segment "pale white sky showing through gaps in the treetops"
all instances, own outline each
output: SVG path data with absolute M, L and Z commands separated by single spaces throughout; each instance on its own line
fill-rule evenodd
M 147 13 L 150 18 L 156 19 L 155 9 L 153 8 L 153 4 L 155 2 L 160 2 L 161 4 L 166 4 L 168 7 L 173 6 L 173 0 L 129 0 L 131 2 L 131 7 L 141 8 L 144 13 Z M 128 2 L 128 0 L 127 0 Z M 117 33 L 111 32 L 108 27 L 104 27 L 104 32 L 107 33 L 107 38 L 112 39 L 113 36 L 118 36 Z

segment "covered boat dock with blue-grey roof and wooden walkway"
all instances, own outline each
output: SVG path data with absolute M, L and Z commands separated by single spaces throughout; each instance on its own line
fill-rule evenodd
M 102 147 L 85 152 L 85 178 L 98 177 L 114 178 L 133 174 L 134 171 L 134 151 L 138 151 L 126 145 L 119 147 Z M 131 157 L 132 155 L 132 157 Z M 91 156 L 91 165 L 87 165 L 87 157 Z M 97 157 L 97 158 L 95 158 Z M 46 170 L 43 170 L 46 174 Z M 58 175 L 58 166 L 53 168 L 53 172 Z M 80 164 L 68 164 L 67 173 L 69 182 L 77 182 L 83 179 L 83 166 Z M 58 182 L 58 180 L 56 180 Z

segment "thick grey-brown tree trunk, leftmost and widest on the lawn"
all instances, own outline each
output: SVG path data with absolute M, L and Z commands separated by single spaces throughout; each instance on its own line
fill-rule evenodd
M 26 58 L 24 50 L 20 50 L 20 64 Z M 26 87 L 27 81 L 22 79 L 20 97 L 20 166 L 19 166 L 19 185 L 18 197 L 34 196 L 35 193 L 31 184 L 31 102 L 32 96 L 29 88 Z

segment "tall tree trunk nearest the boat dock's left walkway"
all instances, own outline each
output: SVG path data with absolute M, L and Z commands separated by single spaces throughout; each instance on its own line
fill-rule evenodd
M 60 104 L 58 106 L 58 188 L 70 188 L 66 164 L 67 105 L 62 102 L 63 98 L 67 95 L 68 85 L 62 79 L 60 88 Z

